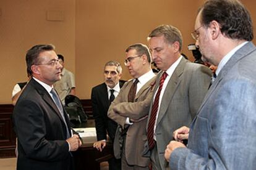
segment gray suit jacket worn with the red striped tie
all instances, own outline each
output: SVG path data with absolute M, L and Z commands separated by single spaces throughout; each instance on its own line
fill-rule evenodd
M 156 77 L 156 88 L 153 94 L 158 89 L 162 74 L 163 71 Z M 173 139 L 173 131 L 181 126 L 190 125 L 197 114 L 203 97 L 207 93 L 210 79 L 211 71 L 209 68 L 201 64 L 191 63 L 183 58 L 174 70 L 164 91 L 158 118 L 156 119 L 156 145 L 161 164 L 159 169 L 168 167 L 164 158 L 166 145 Z M 153 99 L 151 107 L 152 105 Z M 147 143 L 145 144 L 144 153 L 150 155 Z

